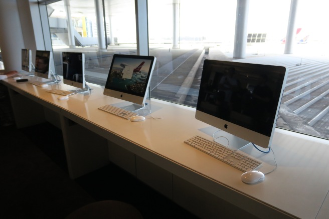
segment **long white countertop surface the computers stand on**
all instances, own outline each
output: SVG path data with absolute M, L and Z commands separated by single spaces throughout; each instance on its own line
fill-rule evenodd
M 233 204 L 241 205 L 246 210 L 257 211 L 252 209 L 253 203 L 260 203 L 295 217 L 316 218 L 329 191 L 329 142 L 324 139 L 276 129 L 272 149 L 275 152 L 277 169 L 267 174 L 263 182 L 249 185 L 241 181 L 241 171 L 184 143 L 184 140 L 194 135 L 212 139 L 205 132 L 210 126 L 195 119 L 194 108 L 151 99 L 151 116 L 162 119 L 153 119 L 148 115 L 145 121 L 131 122 L 98 109 L 106 104 L 122 103 L 118 99 L 104 96 L 102 86 L 89 84 L 93 89 L 90 95 L 76 94 L 68 100 L 57 100 L 59 95 L 46 91 L 68 90 L 72 87 L 60 82 L 58 85 L 41 88 L 28 82 L 16 83 L 12 78 L 2 83 L 76 122 L 83 123 L 91 131 L 109 140 L 118 143 L 120 139 L 131 142 L 136 146 L 124 144 L 122 147 L 153 159 L 162 168 Z M 274 168 L 272 152 L 264 154 L 251 145 L 243 151 L 263 162 L 260 171 L 266 173 Z M 165 161 L 150 156 L 149 152 Z M 201 177 L 192 176 L 189 171 Z M 232 191 L 236 196 L 225 196 L 225 192 L 231 194 Z M 245 200 L 251 202 L 244 203 Z M 317 218 L 327 215 L 327 205 L 328 201 L 322 206 L 324 212 Z

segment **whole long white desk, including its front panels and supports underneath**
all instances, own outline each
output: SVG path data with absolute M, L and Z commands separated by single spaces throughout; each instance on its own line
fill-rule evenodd
M 193 108 L 152 99 L 152 116 L 163 119 L 147 116 L 143 122 L 130 122 L 97 109 L 120 102 L 104 96 L 101 86 L 90 85 L 91 95 L 59 101 L 46 90 L 72 87 L 61 82 L 41 88 L 12 79 L 2 83 L 9 87 L 18 126 L 60 118 L 72 178 L 111 160 L 201 217 L 217 217 L 227 207 L 220 205 L 223 200 L 262 218 L 326 218 L 329 213 L 327 140 L 277 129 L 272 145 L 277 169 L 264 182 L 247 185 L 240 180 L 242 172 L 184 143 L 194 135 L 211 139 L 203 132 L 209 126 L 194 118 Z M 29 100 L 32 109 L 22 110 L 20 105 Z M 264 155 L 252 147 L 245 151 L 264 162 L 259 170 L 273 168 L 272 153 Z

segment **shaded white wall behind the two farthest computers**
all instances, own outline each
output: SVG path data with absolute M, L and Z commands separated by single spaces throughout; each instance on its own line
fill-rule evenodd
M 6 71 L 21 70 L 21 51 L 52 51 L 45 5 L 38 0 L 0 0 L 0 48 Z M 52 61 L 52 69 L 54 62 Z

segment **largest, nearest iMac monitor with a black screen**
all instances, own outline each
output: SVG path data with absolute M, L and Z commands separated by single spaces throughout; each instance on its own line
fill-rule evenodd
M 222 130 L 224 137 L 232 134 L 267 148 L 287 71 L 282 66 L 205 60 L 195 117 Z

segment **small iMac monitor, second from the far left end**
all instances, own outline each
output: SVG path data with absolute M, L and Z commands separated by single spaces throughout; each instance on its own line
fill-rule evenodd
M 36 51 L 36 65 L 34 75 L 49 79 L 51 75 L 50 62 L 52 60 L 52 52 L 46 50 Z

